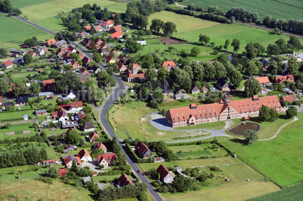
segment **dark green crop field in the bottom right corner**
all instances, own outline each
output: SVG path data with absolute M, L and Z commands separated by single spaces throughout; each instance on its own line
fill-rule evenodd
M 289 201 L 300 200 L 303 197 L 302 188 L 303 188 L 303 183 L 300 183 L 295 186 L 286 187 L 274 193 L 268 193 L 263 196 L 249 199 L 248 201 L 261 201 L 261 200 L 276 201 L 276 200 L 285 200 L 285 199 Z

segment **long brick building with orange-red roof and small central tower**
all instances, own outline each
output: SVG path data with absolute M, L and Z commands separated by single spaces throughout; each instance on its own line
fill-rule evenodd
M 262 106 L 274 108 L 281 112 L 278 96 L 253 96 L 248 99 L 229 101 L 223 99 L 213 104 L 196 105 L 169 109 L 165 120 L 174 128 L 180 126 L 194 126 L 196 124 L 237 119 L 248 116 L 258 116 Z

